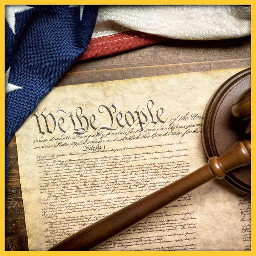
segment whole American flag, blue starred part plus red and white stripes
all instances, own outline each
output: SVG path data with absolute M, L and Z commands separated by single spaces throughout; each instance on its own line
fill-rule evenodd
M 76 60 L 250 33 L 250 6 L 5 5 L 5 147 Z

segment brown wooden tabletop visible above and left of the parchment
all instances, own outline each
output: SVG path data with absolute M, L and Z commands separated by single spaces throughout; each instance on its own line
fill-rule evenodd
M 76 62 L 56 86 L 250 65 L 250 37 L 219 41 L 169 39 L 106 58 Z M 27 233 L 15 136 L 7 146 L 7 152 L 9 176 L 5 187 L 5 250 L 26 251 Z

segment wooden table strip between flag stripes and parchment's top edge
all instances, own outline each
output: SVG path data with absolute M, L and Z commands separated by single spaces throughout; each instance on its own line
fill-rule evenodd
M 250 37 L 168 40 L 108 58 L 77 62 L 57 86 L 250 66 L 250 54 Z

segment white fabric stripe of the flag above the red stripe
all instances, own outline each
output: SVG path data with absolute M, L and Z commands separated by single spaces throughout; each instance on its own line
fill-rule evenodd
M 243 37 L 251 34 L 251 8 L 239 5 L 100 6 L 92 38 L 131 30 L 188 40 Z

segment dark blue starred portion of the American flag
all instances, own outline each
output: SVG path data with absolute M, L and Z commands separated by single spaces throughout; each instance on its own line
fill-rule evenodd
M 86 50 L 98 7 L 5 5 L 5 146 Z M 5 149 L 5 180 L 8 158 Z

